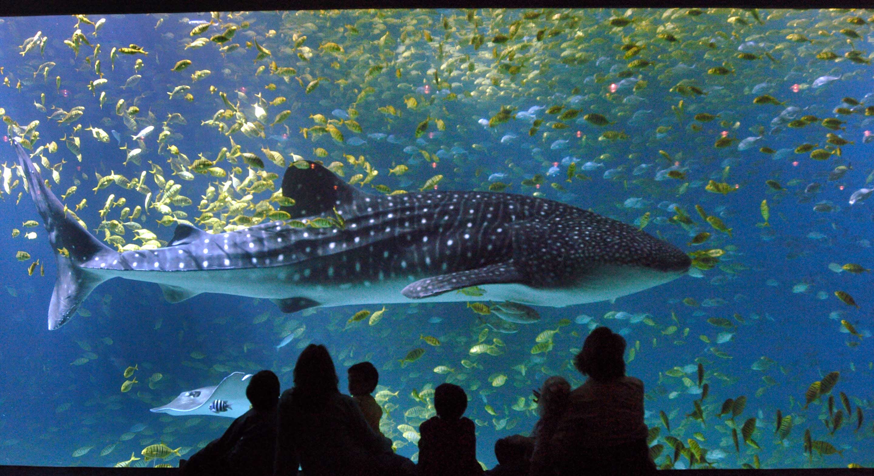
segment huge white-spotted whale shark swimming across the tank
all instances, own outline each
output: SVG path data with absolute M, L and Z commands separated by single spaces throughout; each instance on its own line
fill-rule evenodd
M 336 226 L 271 221 L 211 233 L 177 224 L 163 248 L 117 252 L 65 212 L 12 142 L 57 261 L 49 329 L 113 278 L 156 283 L 170 302 L 225 293 L 274 300 L 294 313 L 474 300 L 565 307 L 658 286 L 690 266 L 676 246 L 572 205 L 485 191 L 375 195 L 309 161 L 286 170 L 282 195 L 295 204 L 281 210 L 295 220 L 336 214 Z M 458 292 L 470 286 L 482 295 Z

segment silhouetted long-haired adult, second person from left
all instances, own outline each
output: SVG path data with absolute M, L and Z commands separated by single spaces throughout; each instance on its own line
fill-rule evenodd
M 337 389 L 334 362 L 309 344 L 295 364 L 295 386 L 282 392 L 274 474 L 406 475 L 413 462 L 392 452 L 391 440 L 367 424 L 355 400 Z

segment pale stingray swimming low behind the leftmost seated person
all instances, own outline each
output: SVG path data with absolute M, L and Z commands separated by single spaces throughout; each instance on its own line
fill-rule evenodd
M 169 404 L 153 408 L 155 413 L 170 415 L 212 415 L 215 417 L 236 418 L 246 413 L 251 404 L 246 398 L 248 379 L 252 374 L 234 372 L 222 379 L 218 385 L 188 390 L 179 394 Z M 216 400 L 224 400 L 228 404 L 227 411 L 216 413 L 210 410 L 210 404 Z

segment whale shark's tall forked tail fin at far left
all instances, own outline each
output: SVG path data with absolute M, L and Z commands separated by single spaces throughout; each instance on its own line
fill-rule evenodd
M 27 189 L 43 218 L 58 264 L 58 277 L 55 280 L 48 315 L 48 327 L 53 330 L 69 321 L 94 287 L 105 280 L 97 272 L 80 265 L 94 259 L 103 260 L 105 263 L 118 253 L 103 245 L 73 218 L 73 212 L 66 210 L 58 197 L 40 180 L 30 155 L 27 155 L 21 144 L 13 140 L 12 145 L 16 149 Z

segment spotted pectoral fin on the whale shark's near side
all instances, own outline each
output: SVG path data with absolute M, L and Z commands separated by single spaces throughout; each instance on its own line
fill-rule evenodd
M 412 300 L 436 296 L 469 286 L 500 283 L 524 283 L 522 272 L 513 261 L 484 266 L 468 271 L 450 272 L 433 278 L 420 279 L 406 286 L 400 293 Z

